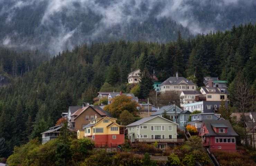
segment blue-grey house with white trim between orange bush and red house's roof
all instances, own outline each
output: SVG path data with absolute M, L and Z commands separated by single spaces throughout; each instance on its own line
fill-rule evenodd
M 192 114 L 191 121 L 187 122 L 187 125 L 194 126 L 198 131 L 201 128 L 201 124 L 203 120 L 220 120 L 220 114 L 215 113 L 199 113 L 199 114 Z

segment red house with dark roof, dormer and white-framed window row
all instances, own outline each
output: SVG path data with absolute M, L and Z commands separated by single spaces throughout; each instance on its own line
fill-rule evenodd
M 228 120 L 204 120 L 199 136 L 210 150 L 236 151 L 237 133 Z

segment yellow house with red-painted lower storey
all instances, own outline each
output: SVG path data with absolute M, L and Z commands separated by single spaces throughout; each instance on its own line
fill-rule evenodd
M 91 120 L 83 127 L 84 137 L 94 141 L 95 146 L 113 146 L 124 144 L 124 126 L 116 122 L 117 119 L 103 117 Z M 80 132 L 80 133 L 78 133 Z M 77 131 L 78 139 L 81 139 L 81 131 Z

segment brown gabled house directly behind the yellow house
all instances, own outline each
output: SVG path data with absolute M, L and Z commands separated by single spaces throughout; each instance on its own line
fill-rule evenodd
M 98 106 L 86 106 L 78 109 L 71 115 L 71 130 L 83 130 L 83 127 L 90 123 L 90 120 L 101 118 L 101 117 L 111 117 L 110 113 L 102 110 Z

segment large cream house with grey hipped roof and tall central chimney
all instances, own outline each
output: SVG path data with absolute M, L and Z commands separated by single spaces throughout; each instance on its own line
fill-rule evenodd
M 184 77 L 179 77 L 178 72 L 176 73 L 176 77 L 169 77 L 159 87 L 161 93 L 172 91 L 178 95 L 180 95 L 181 91 L 196 90 L 196 84 Z

